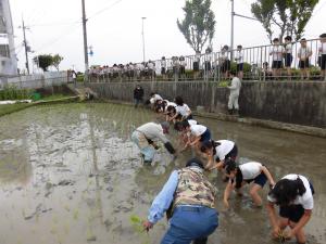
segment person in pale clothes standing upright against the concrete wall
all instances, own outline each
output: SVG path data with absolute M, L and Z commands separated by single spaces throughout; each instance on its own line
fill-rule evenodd
M 241 81 L 235 72 L 230 72 L 231 85 L 227 88 L 230 90 L 228 98 L 228 113 L 239 115 L 239 94 L 241 89 Z

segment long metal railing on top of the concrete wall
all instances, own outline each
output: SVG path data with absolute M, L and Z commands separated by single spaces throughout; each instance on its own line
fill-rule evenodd
M 311 55 L 304 55 L 304 49 L 301 49 L 300 42 L 292 42 L 289 54 L 286 54 L 285 44 L 280 44 L 278 48 L 273 44 L 243 48 L 240 51 L 242 62 L 229 60 L 231 52 L 234 56 L 239 53 L 238 50 L 233 50 L 116 65 L 114 67 L 93 67 L 89 70 L 89 81 L 223 81 L 228 80 L 230 70 L 238 73 L 243 80 L 326 80 L 325 74 L 323 75 L 321 70 L 319 39 L 306 40 L 306 47 L 311 50 Z M 275 50 L 278 52 L 278 59 L 276 59 Z M 280 50 L 284 50 L 285 53 L 279 53 Z M 325 55 L 326 50 L 322 51 Z M 180 57 L 184 57 L 183 61 Z M 308 62 L 305 62 L 306 59 Z M 148 65 L 149 63 L 152 65 Z M 239 72 L 240 63 L 243 66 L 242 74 Z M 326 65 L 325 62 L 323 64 Z

